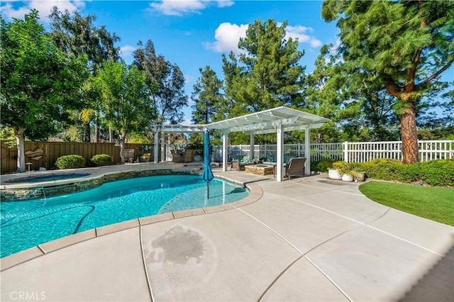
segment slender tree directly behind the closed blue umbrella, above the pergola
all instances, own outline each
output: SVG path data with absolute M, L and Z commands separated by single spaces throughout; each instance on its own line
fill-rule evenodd
M 199 68 L 200 77 L 194 84 L 191 99 L 193 123 L 211 123 L 214 121 L 216 108 L 222 101 L 222 81 L 216 76 L 216 72 L 206 65 L 205 69 Z

